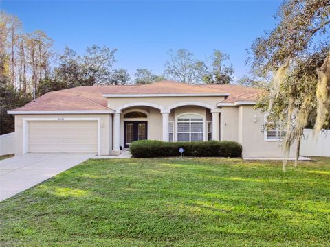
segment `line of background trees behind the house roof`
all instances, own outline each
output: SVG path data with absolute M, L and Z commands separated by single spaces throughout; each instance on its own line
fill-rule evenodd
M 137 69 L 133 78 L 126 69 L 116 69 L 115 52 L 92 45 L 79 55 L 65 47 L 54 52 L 54 40 L 41 30 L 26 33 L 17 16 L 0 12 L 0 134 L 14 131 L 14 117 L 7 110 L 18 108 L 47 92 L 74 86 L 148 84 L 172 79 L 188 84 L 228 84 L 234 69 L 226 66 L 228 54 L 215 50 L 197 60 L 185 50 L 169 51 L 164 74 Z

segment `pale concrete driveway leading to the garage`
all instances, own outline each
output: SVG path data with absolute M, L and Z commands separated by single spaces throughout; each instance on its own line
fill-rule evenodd
M 52 178 L 96 154 L 24 154 L 0 161 L 0 201 Z

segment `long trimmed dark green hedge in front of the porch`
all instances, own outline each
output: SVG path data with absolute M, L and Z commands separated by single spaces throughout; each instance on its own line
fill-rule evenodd
M 192 157 L 241 157 L 242 146 L 234 141 L 133 141 L 129 146 L 135 158 L 180 156 L 179 148 L 184 148 L 184 156 Z

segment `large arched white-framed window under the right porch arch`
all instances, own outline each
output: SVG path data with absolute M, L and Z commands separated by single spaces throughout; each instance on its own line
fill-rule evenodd
M 203 141 L 203 117 L 195 114 L 179 116 L 177 141 Z

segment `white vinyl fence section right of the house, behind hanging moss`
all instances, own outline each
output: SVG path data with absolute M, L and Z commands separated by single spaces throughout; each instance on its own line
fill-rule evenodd
M 313 130 L 305 129 L 301 139 L 300 155 L 330 157 L 330 130 L 323 130 L 313 137 Z

